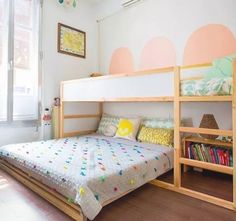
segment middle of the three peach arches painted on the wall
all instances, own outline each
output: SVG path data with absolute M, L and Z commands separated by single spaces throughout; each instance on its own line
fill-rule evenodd
M 141 70 L 174 66 L 175 64 L 175 47 L 165 37 L 151 39 L 142 50 L 140 59 Z

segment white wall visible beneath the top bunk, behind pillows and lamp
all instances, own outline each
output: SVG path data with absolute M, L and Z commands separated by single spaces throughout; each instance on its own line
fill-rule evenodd
M 105 104 L 104 112 L 123 117 L 163 117 L 173 118 L 173 103 L 116 103 Z M 221 129 L 232 129 L 232 108 L 230 103 L 185 103 L 182 106 L 184 126 L 199 127 L 203 114 L 214 114 Z

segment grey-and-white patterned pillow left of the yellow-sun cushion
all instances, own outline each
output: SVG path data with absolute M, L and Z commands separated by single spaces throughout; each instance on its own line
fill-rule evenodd
M 114 137 L 118 128 L 120 118 L 103 114 L 100 120 L 97 133 L 108 137 Z

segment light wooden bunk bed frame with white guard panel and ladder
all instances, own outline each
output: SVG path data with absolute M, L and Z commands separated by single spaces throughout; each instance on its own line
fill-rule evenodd
M 180 84 L 181 84 L 181 72 L 184 70 L 192 70 L 197 68 L 208 68 L 211 67 L 211 63 L 207 64 L 197 64 L 191 66 L 176 66 L 176 67 L 168 67 L 168 68 L 161 68 L 155 70 L 147 70 L 141 72 L 135 72 L 132 75 L 129 74 L 119 74 L 119 75 L 109 75 L 109 76 L 102 76 L 96 78 L 85 78 L 85 79 L 78 79 L 72 81 L 64 81 L 61 82 L 60 87 L 60 94 L 61 94 L 61 108 L 60 108 L 60 137 L 69 137 L 69 136 L 76 136 L 76 135 L 86 135 L 95 132 L 95 130 L 79 130 L 73 132 L 65 132 L 65 121 L 68 119 L 96 119 L 101 118 L 103 113 L 103 104 L 105 102 L 173 102 L 174 103 L 174 183 L 170 184 L 164 181 L 160 181 L 155 179 L 150 183 L 162 187 L 168 190 L 172 190 L 178 193 L 182 193 L 230 210 L 236 211 L 236 88 L 233 89 L 233 94 L 229 96 L 181 96 L 180 94 Z M 171 73 L 171 74 L 170 74 Z M 117 83 L 118 86 L 121 86 L 120 80 L 125 81 L 129 78 L 138 78 L 139 80 L 147 83 L 145 78 L 151 77 L 151 79 L 155 79 L 157 76 L 170 74 L 172 76 L 173 84 L 170 83 L 170 78 L 167 77 L 164 81 L 168 82 L 171 87 L 174 88 L 171 93 L 167 93 L 167 96 L 158 96 L 158 90 L 152 90 L 153 88 L 158 88 L 153 84 L 153 81 L 150 81 L 151 86 L 153 88 L 147 87 L 148 93 L 145 96 L 110 96 L 109 95 L 99 95 L 98 97 L 94 97 L 93 95 L 96 94 L 98 91 L 92 91 L 91 93 L 91 86 L 96 85 L 99 81 L 115 81 L 115 85 Z M 233 62 L 233 85 L 236 86 L 236 61 Z M 117 81 L 118 80 L 118 81 Z M 117 82 L 116 82 L 117 81 Z M 104 82 L 103 82 L 104 83 Z M 81 85 L 82 88 L 81 88 Z M 83 85 L 84 84 L 84 85 Z M 116 85 L 116 86 L 117 86 Z M 102 85 L 101 85 L 102 86 Z M 111 88 L 109 93 L 112 94 L 113 90 L 119 89 L 119 87 Z M 137 90 L 134 85 L 131 85 L 131 89 Z M 172 89 L 173 89 L 172 88 Z M 96 87 L 95 87 L 96 89 Z M 99 89 L 99 87 L 97 87 Z M 124 88 L 123 88 L 124 89 Z M 79 93 L 81 90 L 85 90 L 83 94 Z M 87 90 L 87 91 L 86 91 Z M 68 93 L 69 91 L 69 93 Z M 83 97 L 84 94 L 91 93 L 90 96 Z M 137 93 L 138 94 L 138 93 Z M 97 114 L 75 114 L 75 115 L 66 115 L 65 114 L 65 105 L 67 103 L 73 102 L 94 102 L 99 105 L 99 111 Z M 215 130 L 215 129 L 204 129 L 204 128 L 194 128 L 194 127 L 181 127 L 181 104 L 183 102 L 231 102 L 232 103 L 232 130 Z M 233 137 L 233 167 L 227 167 L 207 162 L 195 161 L 190 160 L 187 158 L 182 157 L 182 146 L 181 146 L 181 133 L 201 133 L 201 134 L 211 134 L 211 135 L 223 135 L 223 136 L 232 136 Z M 199 167 L 207 170 L 217 171 L 221 173 L 231 174 L 233 176 L 233 202 L 220 199 L 208 194 L 200 193 L 197 191 L 193 191 L 191 189 L 187 189 L 181 186 L 181 165 L 185 166 L 194 166 Z M 51 204 L 62 210 L 64 213 L 69 215 L 74 220 L 84 221 L 86 217 L 83 215 L 80 206 L 71 202 L 68 202 L 67 199 L 56 193 L 55 191 L 51 190 L 49 187 L 45 186 L 44 184 L 40 183 L 39 181 L 33 179 L 30 174 L 27 174 L 16 167 L 10 165 L 4 160 L 0 160 L 0 167 L 4 169 L 6 172 L 14 176 L 17 180 L 22 182 L 24 185 L 32 189 L 34 192 L 45 198 Z M 127 193 L 125 193 L 127 194 Z M 124 196 L 122 194 L 119 197 Z M 118 198 L 119 198 L 118 197 Z M 118 199 L 116 198 L 116 199 Z M 106 202 L 104 205 L 107 205 L 113 202 L 116 199 L 112 199 L 109 202 Z M 103 205 L 103 206 L 104 206 Z

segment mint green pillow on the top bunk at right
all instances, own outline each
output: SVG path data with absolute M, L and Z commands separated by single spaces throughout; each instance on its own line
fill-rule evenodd
M 236 58 L 236 54 L 229 55 L 223 58 L 215 59 L 213 67 L 206 73 L 205 78 L 215 77 L 232 77 L 233 66 L 232 62 Z

